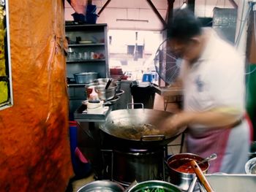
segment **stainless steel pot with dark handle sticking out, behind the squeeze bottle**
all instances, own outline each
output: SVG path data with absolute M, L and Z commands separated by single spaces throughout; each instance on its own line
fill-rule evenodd
M 107 82 L 92 82 L 92 83 L 89 83 L 88 85 L 86 85 L 87 99 L 89 99 L 92 88 L 94 88 L 95 91 L 98 93 L 99 99 L 104 100 L 104 101 L 113 99 L 116 96 L 117 85 L 116 85 L 116 83 L 111 82 L 108 89 L 105 89 L 106 85 L 107 85 Z

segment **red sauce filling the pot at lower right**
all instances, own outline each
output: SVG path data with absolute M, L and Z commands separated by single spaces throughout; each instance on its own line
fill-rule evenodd
M 192 169 L 192 165 L 190 164 L 191 160 L 195 160 L 192 158 L 181 158 L 181 159 L 174 159 L 173 161 L 168 162 L 168 166 L 172 169 L 175 169 L 177 172 L 182 173 L 195 173 Z M 196 161 L 197 163 L 199 161 Z M 207 162 L 204 164 L 200 164 L 200 169 L 204 172 L 208 168 Z

